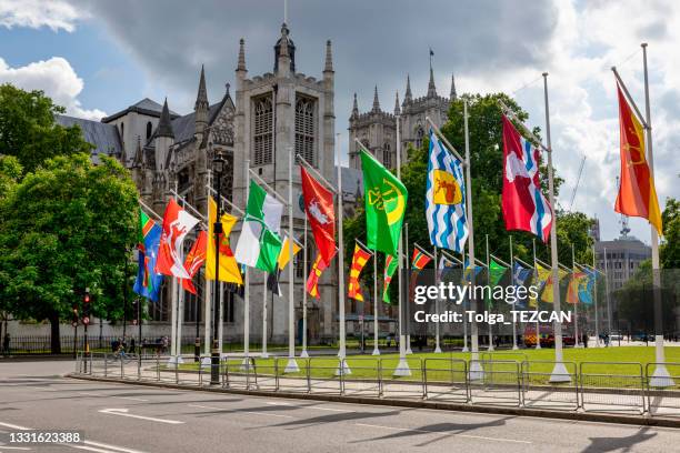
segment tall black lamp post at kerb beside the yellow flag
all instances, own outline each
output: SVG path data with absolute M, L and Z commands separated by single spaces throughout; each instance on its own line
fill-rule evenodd
M 214 219 L 214 294 L 212 302 L 212 350 L 210 351 L 210 384 L 218 385 L 220 383 L 220 346 L 218 338 L 218 325 L 220 322 L 218 306 L 220 306 L 220 291 L 218 282 L 220 281 L 220 234 L 222 234 L 222 222 L 220 218 L 222 212 L 220 201 L 222 199 L 222 173 L 224 171 L 224 158 L 220 151 L 217 151 L 212 160 L 212 169 L 214 171 L 216 192 L 217 192 L 217 217 Z

